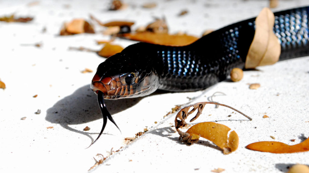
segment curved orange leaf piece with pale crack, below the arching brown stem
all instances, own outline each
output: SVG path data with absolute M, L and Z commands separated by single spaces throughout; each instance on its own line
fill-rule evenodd
M 198 123 L 188 129 L 186 133 L 192 140 L 203 137 L 210 140 L 223 150 L 223 154 L 230 154 L 238 148 L 239 137 L 235 131 L 223 124 L 204 122 Z

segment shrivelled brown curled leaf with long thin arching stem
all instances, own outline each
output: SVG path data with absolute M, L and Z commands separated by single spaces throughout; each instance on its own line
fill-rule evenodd
M 183 141 L 188 141 L 190 143 L 194 143 L 194 142 L 197 142 L 197 140 L 192 140 L 192 135 L 190 135 L 189 133 L 186 133 L 186 132 L 182 132 L 179 130 L 180 127 L 185 127 L 187 125 L 187 123 L 185 122 L 185 119 L 187 119 L 187 117 L 189 115 L 191 115 L 194 111 L 197 110 L 197 114 L 190 120 L 190 122 L 193 122 L 194 120 L 196 120 L 202 113 L 204 107 L 206 104 L 215 104 L 215 105 L 220 105 L 220 106 L 224 106 L 224 107 L 228 107 L 230 109 L 233 109 L 234 111 L 240 113 L 241 115 L 245 116 L 246 118 L 248 118 L 250 121 L 252 120 L 252 118 L 250 118 L 249 116 L 245 115 L 244 113 L 238 111 L 237 109 L 233 108 L 233 107 L 230 107 L 230 106 L 227 106 L 225 104 L 221 104 L 221 103 L 215 103 L 215 102 L 200 102 L 200 103 L 195 103 L 195 104 L 192 104 L 192 105 L 189 105 L 187 107 L 184 107 L 183 109 L 181 109 L 176 117 L 175 117 L 175 127 L 176 127 L 176 130 L 178 132 L 178 134 L 180 135 L 179 139 L 183 139 Z M 191 111 L 189 111 L 189 109 L 192 108 Z

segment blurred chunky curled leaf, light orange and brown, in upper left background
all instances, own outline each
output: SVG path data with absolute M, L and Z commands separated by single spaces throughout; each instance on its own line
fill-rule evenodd
M 95 33 L 93 26 L 84 19 L 73 19 L 71 22 L 64 23 L 60 30 L 60 35 L 81 33 Z

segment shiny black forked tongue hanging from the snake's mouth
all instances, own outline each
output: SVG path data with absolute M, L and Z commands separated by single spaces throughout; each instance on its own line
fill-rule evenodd
M 120 131 L 119 127 L 117 126 L 117 124 L 115 123 L 114 119 L 112 118 L 112 115 L 108 112 L 106 106 L 105 106 L 105 103 L 104 103 L 104 93 L 102 91 L 99 91 L 98 92 L 98 104 L 99 104 L 99 107 L 100 107 L 100 110 L 101 110 L 101 113 L 102 113 L 102 116 L 103 116 L 103 126 L 102 126 L 102 129 L 100 131 L 100 134 L 99 136 L 97 137 L 97 139 L 95 139 L 95 141 L 92 144 L 94 144 L 98 139 L 99 137 L 102 135 L 103 131 L 104 131 L 104 128 L 106 126 L 106 123 L 107 123 L 107 118 L 115 124 L 115 126 L 118 128 L 118 130 Z M 120 131 L 121 132 L 121 131 Z M 90 146 L 91 146 L 90 145 Z M 90 147 L 89 146 L 89 147 Z

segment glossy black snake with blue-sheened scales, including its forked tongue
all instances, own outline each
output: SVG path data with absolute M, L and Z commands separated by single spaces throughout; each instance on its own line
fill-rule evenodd
M 273 32 L 281 46 L 279 61 L 309 55 L 309 6 L 275 12 L 274 16 Z M 142 97 L 158 89 L 203 90 L 226 80 L 233 68 L 243 69 L 255 19 L 225 26 L 186 46 L 138 42 L 108 57 L 91 81 L 103 116 L 102 129 L 93 143 L 103 133 L 107 119 L 116 125 L 104 99 Z

